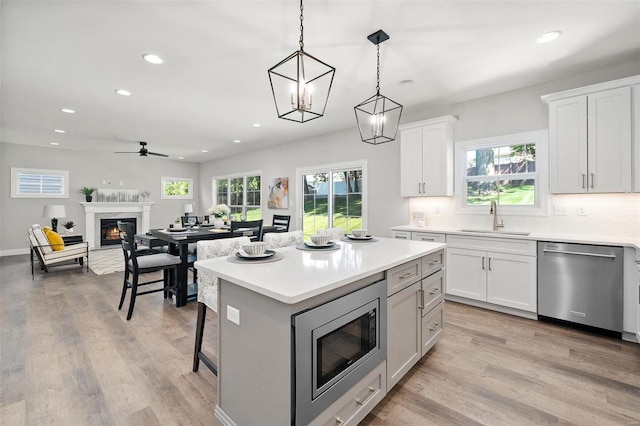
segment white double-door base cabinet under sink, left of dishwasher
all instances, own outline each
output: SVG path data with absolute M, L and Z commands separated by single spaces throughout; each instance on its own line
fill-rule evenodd
M 458 240 L 461 245 L 466 241 Z M 490 238 L 474 238 L 470 246 L 490 248 Z M 517 242 L 502 240 L 497 247 L 509 251 Z M 466 299 L 478 300 L 494 305 L 506 306 L 527 312 L 537 312 L 537 261 L 535 241 L 530 244 L 529 253 L 509 254 L 502 251 L 478 250 L 472 248 L 447 248 L 446 293 Z M 525 250 L 527 251 L 527 250 Z

